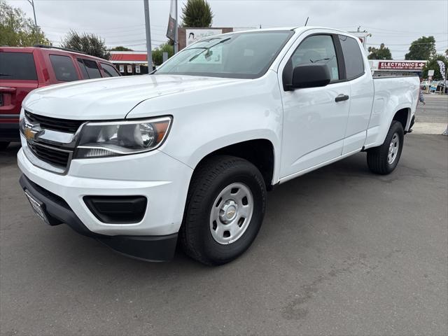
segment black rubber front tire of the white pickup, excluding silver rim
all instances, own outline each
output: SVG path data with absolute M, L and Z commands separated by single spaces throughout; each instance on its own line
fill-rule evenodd
M 253 197 L 253 212 L 244 233 L 230 244 L 219 244 L 211 233 L 211 211 L 220 193 L 241 183 Z M 259 170 L 246 160 L 216 155 L 195 169 L 179 231 L 183 250 L 206 265 L 222 265 L 244 253 L 260 230 L 266 208 L 266 186 Z

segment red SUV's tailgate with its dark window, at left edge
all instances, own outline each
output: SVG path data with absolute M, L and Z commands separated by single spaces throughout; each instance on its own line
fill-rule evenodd
M 18 123 L 23 99 L 37 86 L 33 53 L 0 48 L 0 123 Z

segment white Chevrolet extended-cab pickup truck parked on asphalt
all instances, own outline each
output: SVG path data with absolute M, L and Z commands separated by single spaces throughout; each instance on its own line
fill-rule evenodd
M 373 79 L 344 31 L 211 36 L 147 76 L 31 92 L 20 184 L 50 225 L 145 260 L 179 240 L 220 265 L 251 245 L 277 184 L 360 151 L 391 173 L 418 98 L 417 77 Z

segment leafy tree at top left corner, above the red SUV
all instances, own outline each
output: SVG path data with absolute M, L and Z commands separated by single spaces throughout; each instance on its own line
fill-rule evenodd
M 0 0 L 0 45 L 27 47 L 34 44 L 51 45 L 34 21 L 20 8 L 8 6 Z

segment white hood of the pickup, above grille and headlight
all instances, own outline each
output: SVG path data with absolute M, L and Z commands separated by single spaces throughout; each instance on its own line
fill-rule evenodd
M 78 80 L 34 90 L 28 94 L 22 106 L 31 113 L 53 118 L 123 119 L 134 106 L 146 99 L 237 81 L 241 79 L 183 75 Z

